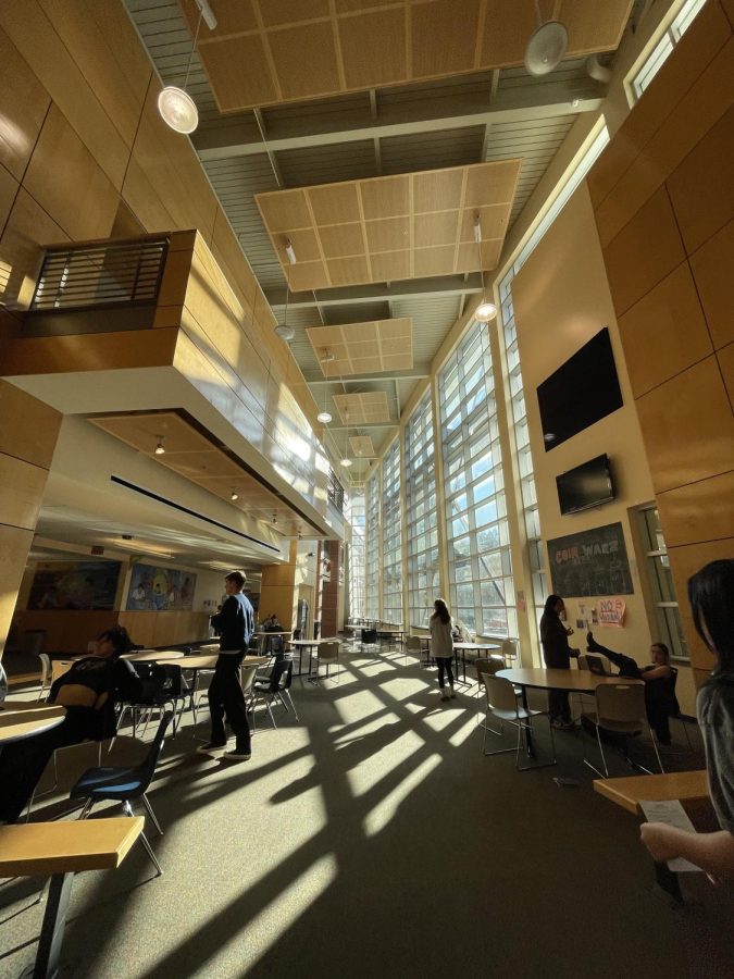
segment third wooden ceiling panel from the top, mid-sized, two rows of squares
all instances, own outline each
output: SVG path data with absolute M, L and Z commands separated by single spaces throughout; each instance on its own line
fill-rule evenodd
M 413 365 L 411 317 L 310 326 L 306 333 L 324 377 L 407 371 Z

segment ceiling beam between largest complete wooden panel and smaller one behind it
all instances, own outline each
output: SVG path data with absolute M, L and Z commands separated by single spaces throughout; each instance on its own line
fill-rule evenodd
M 338 289 L 319 289 L 320 306 L 349 306 L 354 302 L 387 302 L 390 299 L 426 299 L 440 294 L 461 296 L 482 292 L 482 276 L 478 272 L 464 275 L 437 275 L 434 278 L 406 278 L 384 283 L 368 283 L 345 286 Z M 265 299 L 271 307 L 285 306 L 285 286 L 265 289 Z M 291 293 L 288 309 L 313 307 L 314 293 Z

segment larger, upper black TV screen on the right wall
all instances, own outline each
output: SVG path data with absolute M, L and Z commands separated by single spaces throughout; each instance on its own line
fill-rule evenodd
M 538 387 L 546 451 L 622 407 L 614 355 L 605 326 Z

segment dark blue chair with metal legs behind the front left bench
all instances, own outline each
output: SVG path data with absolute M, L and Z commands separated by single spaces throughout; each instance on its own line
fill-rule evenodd
M 142 759 L 140 765 L 126 768 L 103 766 L 99 768 L 89 768 L 87 771 L 85 771 L 82 778 L 77 781 L 76 785 L 74 785 L 74 788 L 72 789 L 69 796 L 70 798 L 86 800 L 84 807 L 82 808 L 79 819 L 86 819 L 91 813 L 95 803 L 105 800 L 113 800 L 115 802 L 122 803 L 123 811 L 125 813 L 125 815 L 135 816 L 133 806 L 130 805 L 130 801 L 139 798 L 141 800 L 142 805 L 146 807 L 146 811 L 152 819 L 153 826 L 158 830 L 159 835 L 163 835 L 163 830 L 161 829 L 161 826 L 155 818 L 155 814 L 153 813 L 152 806 L 150 805 L 146 793 L 153 780 L 155 766 L 158 765 L 158 759 L 160 758 L 161 752 L 163 751 L 165 732 L 169 724 L 173 720 L 173 710 L 166 710 L 163 714 L 161 722 L 158 726 L 158 731 L 155 732 L 155 738 L 153 739 L 153 743 L 150 746 L 150 751 Z M 150 860 L 153 867 L 155 867 L 158 876 L 160 877 L 161 873 L 163 873 L 163 871 L 161 870 L 161 865 L 155 859 L 155 854 L 153 853 L 145 832 L 140 833 L 140 842 L 142 843 L 146 853 L 150 857 Z

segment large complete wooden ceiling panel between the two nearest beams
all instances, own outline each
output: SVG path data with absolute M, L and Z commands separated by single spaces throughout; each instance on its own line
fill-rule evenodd
M 256 200 L 291 292 L 488 272 L 499 261 L 521 163 L 321 184 Z

